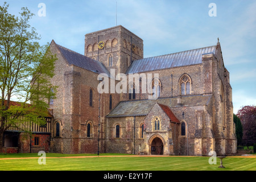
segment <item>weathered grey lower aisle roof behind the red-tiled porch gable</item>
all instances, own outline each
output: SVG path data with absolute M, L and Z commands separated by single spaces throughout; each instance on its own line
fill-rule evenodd
M 183 96 L 181 98 L 182 106 L 205 106 L 209 104 L 211 94 Z M 146 116 L 155 103 L 170 107 L 177 107 L 177 97 L 158 98 L 157 100 L 133 100 L 122 101 L 106 116 L 107 118 L 115 117 L 133 117 Z

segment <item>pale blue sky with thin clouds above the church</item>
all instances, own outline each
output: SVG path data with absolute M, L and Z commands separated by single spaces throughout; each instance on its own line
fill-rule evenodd
M 1 6 L 4 1 L 0 1 Z M 84 54 L 84 36 L 121 24 L 143 39 L 144 57 L 213 46 L 220 38 L 225 67 L 230 72 L 234 113 L 256 104 L 256 1 L 170 0 L 13 0 L 9 13 L 28 7 L 41 44 L 57 44 Z M 39 3 L 46 16 L 39 16 Z M 209 4 L 216 15 L 209 16 Z

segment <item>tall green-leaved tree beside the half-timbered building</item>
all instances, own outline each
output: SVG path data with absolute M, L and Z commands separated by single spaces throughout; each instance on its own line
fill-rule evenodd
M 8 7 L 6 2 L 0 6 L 0 152 L 10 126 L 46 123 L 48 99 L 56 89 L 49 82 L 56 57 L 37 42 L 40 37 L 29 24 L 34 14 L 22 7 L 18 17 L 9 14 Z M 13 98 L 18 104 L 12 104 Z

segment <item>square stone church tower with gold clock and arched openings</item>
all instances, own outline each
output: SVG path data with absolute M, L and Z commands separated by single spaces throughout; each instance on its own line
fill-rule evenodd
M 84 55 L 98 60 L 115 75 L 126 73 L 133 60 L 143 59 L 143 40 L 125 27 L 115 26 L 85 35 Z

